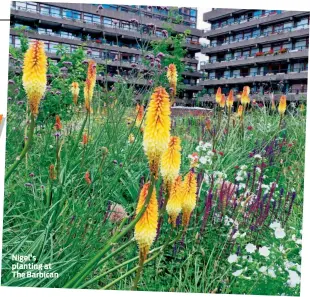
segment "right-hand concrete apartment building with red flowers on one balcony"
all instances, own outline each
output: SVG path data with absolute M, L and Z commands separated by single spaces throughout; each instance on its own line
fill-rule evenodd
M 252 93 L 271 91 L 300 97 L 307 91 L 309 12 L 283 10 L 213 9 L 203 15 L 211 28 L 210 44 L 201 63 L 203 93 L 217 87 L 228 93 L 244 85 Z M 299 94 L 299 96 L 296 96 Z M 305 97 L 305 96 L 304 96 Z

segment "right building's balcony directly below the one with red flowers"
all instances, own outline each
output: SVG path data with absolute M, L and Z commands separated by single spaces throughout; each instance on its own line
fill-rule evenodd
M 248 76 L 218 76 L 212 77 L 201 81 L 199 84 L 201 86 L 220 86 L 220 85 L 231 85 L 231 84 L 251 84 L 256 82 L 276 82 L 283 80 L 307 80 L 308 70 L 296 70 L 287 73 L 279 72 L 267 72 L 267 73 L 257 73 L 253 72 Z

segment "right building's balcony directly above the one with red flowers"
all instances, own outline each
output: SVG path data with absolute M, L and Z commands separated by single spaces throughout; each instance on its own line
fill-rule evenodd
M 208 45 L 203 47 L 203 54 L 212 54 L 219 51 L 227 51 L 237 48 L 244 48 L 251 45 L 270 43 L 274 41 L 287 40 L 292 37 L 309 36 L 309 25 L 301 25 L 292 28 L 278 30 L 276 32 L 268 32 L 265 34 L 256 34 L 248 38 L 235 38 L 229 42 L 222 44 Z

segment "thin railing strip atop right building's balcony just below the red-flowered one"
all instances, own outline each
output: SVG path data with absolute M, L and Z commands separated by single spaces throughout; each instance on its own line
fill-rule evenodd
M 212 75 L 209 80 L 220 80 L 220 79 L 232 79 L 232 78 L 241 78 L 241 77 L 255 77 L 255 76 L 272 76 L 272 75 L 283 75 L 283 74 L 292 74 L 292 73 L 301 73 L 308 71 L 307 67 L 293 68 L 293 69 L 282 69 L 282 70 L 268 70 L 268 71 L 251 71 L 247 75 L 241 74 L 227 74 L 227 75 Z

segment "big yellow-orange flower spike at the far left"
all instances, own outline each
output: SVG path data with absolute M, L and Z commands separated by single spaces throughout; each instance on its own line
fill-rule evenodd
M 46 71 L 47 57 L 44 43 L 36 40 L 25 53 L 23 66 L 23 86 L 33 116 L 39 113 L 40 101 L 46 89 Z

